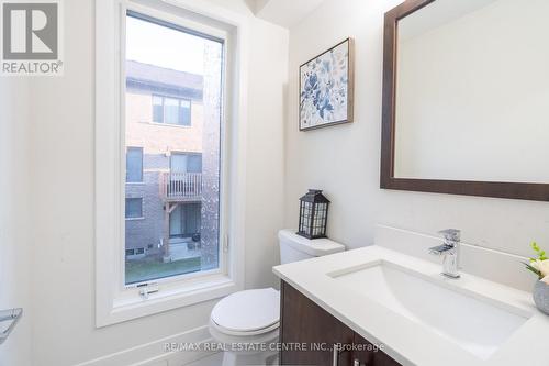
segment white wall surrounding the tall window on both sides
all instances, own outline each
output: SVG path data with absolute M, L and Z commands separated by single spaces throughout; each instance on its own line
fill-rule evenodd
M 246 225 L 254 230 L 238 244 L 249 258 L 247 286 L 269 286 L 282 203 L 274 210 L 261 199 L 282 202 L 288 31 L 253 19 L 244 1 L 221 4 L 250 16 Z M 214 304 L 94 328 L 93 13 L 92 0 L 65 2 L 65 76 L 32 84 L 32 340 L 33 365 L 40 366 L 74 365 L 203 326 Z

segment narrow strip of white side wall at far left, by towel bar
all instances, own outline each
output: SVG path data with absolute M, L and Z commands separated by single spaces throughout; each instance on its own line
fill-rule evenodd
M 0 79 L 0 310 L 23 308 L 23 318 L 0 345 L 0 365 L 30 363 L 29 82 Z M 5 323 L 0 329 L 4 329 Z

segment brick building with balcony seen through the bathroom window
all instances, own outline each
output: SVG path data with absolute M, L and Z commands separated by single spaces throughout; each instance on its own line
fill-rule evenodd
M 126 76 L 126 258 L 171 262 L 177 245 L 217 247 L 217 236 L 201 235 L 203 226 L 219 230 L 220 179 L 219 123 L 204 129 L 204 77 L 136 62 Z M 212 158 L 203 170 L 205 143 Z

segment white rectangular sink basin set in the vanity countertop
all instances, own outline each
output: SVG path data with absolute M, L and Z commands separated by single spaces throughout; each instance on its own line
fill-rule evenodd
M 528 320 L 520 309 L 453 290 L 441 280 L 385 260 L 328 276 L 354 293 L 429 328 L 481 359 L 488 359 Z

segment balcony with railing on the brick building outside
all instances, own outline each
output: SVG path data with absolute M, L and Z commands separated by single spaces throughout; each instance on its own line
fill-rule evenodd
M 161 173 L 160 197 L 167 201 L 200 201 L 202 173 Z

